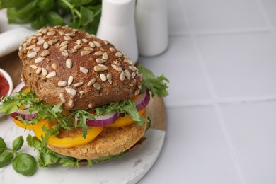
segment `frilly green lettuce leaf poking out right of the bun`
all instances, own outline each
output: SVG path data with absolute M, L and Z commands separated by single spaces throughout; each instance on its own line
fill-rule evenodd
M 142 90 L 148 89 L 151 91 L 152 96 L 165 97 L 168 96 L 168 86 L 167 83 L 169 80 L 164 76 L 155 77 L 154 73 L 144 67 L 142 64 L 138 65 L 139 73 L 143 74 L 142 79 Z

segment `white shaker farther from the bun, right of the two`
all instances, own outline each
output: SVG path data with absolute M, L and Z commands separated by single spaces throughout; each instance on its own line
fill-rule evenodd
M 139 54 L 154 56 L 168 47 L 166 0 L 137 0 L 135 11 Z

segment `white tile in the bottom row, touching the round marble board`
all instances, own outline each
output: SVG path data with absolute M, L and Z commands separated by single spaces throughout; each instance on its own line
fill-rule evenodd
M 163 151 L 141 183 L 240 183 L 212 106 L 167 112 Z

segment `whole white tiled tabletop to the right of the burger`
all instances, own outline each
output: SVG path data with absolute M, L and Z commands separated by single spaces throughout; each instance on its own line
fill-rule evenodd
M 170 0 L 163 150 L 139 183 L 276 183 L 276 1 Z

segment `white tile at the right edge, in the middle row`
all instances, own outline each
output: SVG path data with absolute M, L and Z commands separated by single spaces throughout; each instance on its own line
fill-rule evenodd
M 270 32 L 197 37 L 219 98 L 266 98 L 276 94 L 276 42 Z

